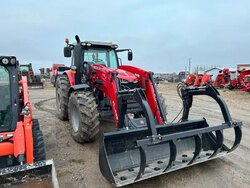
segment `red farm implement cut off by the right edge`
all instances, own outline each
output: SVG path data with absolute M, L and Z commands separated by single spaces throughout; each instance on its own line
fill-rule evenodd
M 231 80 L 229 89 L 239 89 L 241 91 L 250 92 L 250 69 L 239 71 L 238 77 Z

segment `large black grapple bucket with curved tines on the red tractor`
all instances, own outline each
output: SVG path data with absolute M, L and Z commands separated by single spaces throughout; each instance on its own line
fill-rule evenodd
M 187 120 L 193 95 L 206 94 L 220 105 L 225 123 L 210 127 L 205 119 Z M 146 98 L 140 91 L 135 100 L 141 104 L 147 126 L 105 133 L 100 140 L 99 165 L 103 176 L 116 187 L 178 170 L 226 155 L 240 143 L 242 123 L 232 121 L 228 108 L 212 86 L 185 88 L 182 122 L 156 125 Z M 141 101 L 141 102 L 140 102 Z M 223 130 L 232 129 L 231 147 L 224 144 Z

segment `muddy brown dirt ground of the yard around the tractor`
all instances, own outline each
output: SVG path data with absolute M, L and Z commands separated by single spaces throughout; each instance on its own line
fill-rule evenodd
M 168 105 L 168 121 L 172 121 L 182 108 L 175 84 L 160 84 Z M 227 102 L 233 119 L 242 120 L 243 138 L 233 153 L 206 163 L 151 178 L 127 187 L 249 187 L 250 185 L 250 95 L 239 91 L 219 90 Z M 34 118 L 39 119 L 45 136 L 47 158 L 53 158 L 60 187 L 98 188 L 112 187 L 101 175 L 98 165 L 98 139 L 80 145 L 70 135 L 69 123 L 56 117 L 55 89 L 30 91 Z M 190 118 L 206 117 L 208 123 L 222 122 L 218 105 L 208 97 L 197 97 Z M 177 118 L 178 120 L 178 118 Z M 113 129 L 112 121 L 101 121 L 101 131 Z M 225 140 L 233 141 L 232 133 Z

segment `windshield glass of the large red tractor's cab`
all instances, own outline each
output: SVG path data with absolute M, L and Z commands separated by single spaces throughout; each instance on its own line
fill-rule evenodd
M 112 49 L 84 50 L 84 61 L 101 64 L 110 68 L 118 68 L 116 53 Z

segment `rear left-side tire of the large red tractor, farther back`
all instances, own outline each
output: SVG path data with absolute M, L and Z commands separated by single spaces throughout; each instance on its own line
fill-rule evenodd
M 70 83 L 66 75 L 61 75 L 56 82 L 56 107 L 57 116 L 60 120 L 68 120 Z

